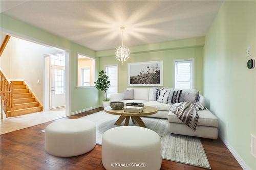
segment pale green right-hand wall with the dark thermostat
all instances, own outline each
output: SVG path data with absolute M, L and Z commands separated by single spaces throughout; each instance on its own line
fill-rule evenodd
M 246 56 L 251 45 L 252 56 Z M 219 135 L 256 169 L 250 154 L 250 135 L 256 135 L 256 2 L 226 1 L 206 34 L 204 95 L 207 107 L 219 118 Z

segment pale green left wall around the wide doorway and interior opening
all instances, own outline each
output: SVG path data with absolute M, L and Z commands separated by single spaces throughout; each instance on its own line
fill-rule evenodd
M 72 41 L 48 33 L 44 30 L 38 29 L 27 23 L 16 20 L 7 15 L 1 14 L 1 31 L 8 31 L 15 35 L 26 36 L 30 40 L 41 42 L 48 45 L 54 45 L 59 48 L 65 48 L 70 51 L 70 99 L 71 111 L 79 111 L 82 109 L 94 107 L 99 105 L 98 90 L 90 89 L 76 89 L 76 54 L 81 53 L 91 57 L 96 56 L 96 52 L 76 44 Z M 99 60 L 96 57 L 96 71 L 99 69 Z

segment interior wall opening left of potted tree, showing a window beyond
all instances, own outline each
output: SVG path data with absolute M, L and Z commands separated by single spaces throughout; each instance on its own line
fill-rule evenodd
M 77 54 L 77 86 L 90 87 L 95 82 L 95 59 Z

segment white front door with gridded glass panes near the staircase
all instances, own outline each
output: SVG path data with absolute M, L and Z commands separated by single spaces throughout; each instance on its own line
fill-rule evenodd
M 65 67 L 51 65 L 51 109 L 65 106 Z

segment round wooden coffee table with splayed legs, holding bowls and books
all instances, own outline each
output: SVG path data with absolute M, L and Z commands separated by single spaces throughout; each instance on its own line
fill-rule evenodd
M 132 112 L 124 112 L 123 109 L 113 110 L 110 106 L 108 106 L 104 108 L 104 111 L 109 114 L 120 115 L 120 117 L 116 120 L 115 125 L 121 125 L 121 123 L 125 119 L 124 126 L 128 126 L 129 120 L 131 117 L 133 124 L 137 122 L 140 127 L 146 128 L 146 125 L 144 124 L 140 116 L 156 114 L 158 110 L 155 107 L 144 106 L 142 113 L 132 113 Z

